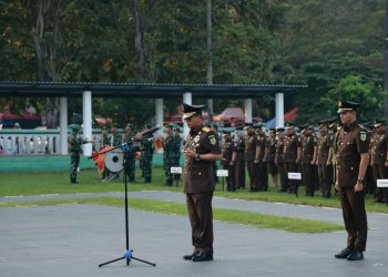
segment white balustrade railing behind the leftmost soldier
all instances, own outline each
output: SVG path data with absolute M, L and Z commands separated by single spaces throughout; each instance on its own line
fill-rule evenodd
M 92 140 L 93 151 L 99 150 L 99 131 Z M 60 155 L 60 141 L 59 130 L 0 130 L 0 155 Z

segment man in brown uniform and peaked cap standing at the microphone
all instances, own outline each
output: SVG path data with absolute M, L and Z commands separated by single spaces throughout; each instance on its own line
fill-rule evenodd
M 215 188 L 212 162 L 222 158 L 216 134 L 203 126 L 202 109 L 183 104 L 183 119 L 190 127 L 183 153 L 184 193 L 192 226 L 194 252 L 183 256 L 185 260 L 213 259 L 212 197 Z

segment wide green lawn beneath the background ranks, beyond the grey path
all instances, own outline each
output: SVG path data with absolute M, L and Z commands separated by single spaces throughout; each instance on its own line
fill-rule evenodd
M 164 171 L 155 168 L 153 171 L 153 181 L 151 184 L 144 184 L 140 177 L 140 170 L 136 171 L 136 182 L 129 184 L 130 191 L 175 191 L 182 192 L 182 182 L 178 186 L 165 187 Z M 0 196 L 16 195 L 40 195 L 40 194 L 71 194 L 71 193 L 106 193 L 123 192 L 124 185 L 122 175 L 120 179 L 111 183 L 101 183 L 96 171 L 83 171 L 79 173 L 79 184 L 71 185 L 69 173 L 1 173 L 0 174 Z M 237 191 L 229 193 L 222 191 L 222 184 L 216 187 L 215 195 L 227 198 L 239 198 L 247 201 L 280 202 L 299 205 L 340 207 L 338 197 L 329 199 L 317 196 L 304 196 L 305 188 L 299 188 L 299 197 L 285 193 L 276 192 L 277 188 L 270 186 L 268 192 L 251 193 L 248 191 Z M 377 204 L 371 201 L 371 196 L 366 197 L 366 208 L 368 212 L 388 213 L 387 205 Z

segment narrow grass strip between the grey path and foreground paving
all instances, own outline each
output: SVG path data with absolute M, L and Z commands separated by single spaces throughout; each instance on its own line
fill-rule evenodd
M 17 207 L 17 206 L 33 206 L 33 205 L 58 205 L 58 204 L 99 204 L 108 206 L 124 207 L 122 198 L 119 197 L 99 197 L 99 198 L 81 198 L 81 199 L 61 199 L 61 201 L 40 201 L 31 203 L 3 203 L 0 207 Z M 172 202 L 160 202 L 149 199 L 130 199 L 130 207 L 146 212 L 154 212 L 161 214 L 174 214 L 186 216 L 186 205 L 172 203 Z M 214 220 L 243 224 L 255 227 L 280 229 L 292 233 L 328 233 L 344 229 L 343 226 L 324 223 L 318 220 L 299 219 L 292 217 L 283 217 L 275 215 L 264 215 L 251 212 L 241 212 L 232 209 L 213 209 Z

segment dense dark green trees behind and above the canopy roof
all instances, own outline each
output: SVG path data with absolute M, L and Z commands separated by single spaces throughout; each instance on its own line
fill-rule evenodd
M 6 0 L 0 14 L 1 80 L 206 83 L 211 54 L 214 83 L 308 84 L 285 101 L 299 122 L 331 116 L 337 98 L 363 102 L 363 120 L 382 115 L 382 0 L 212 0 L 212 53 L 205 0 Z M 25 101 L 55 126 L 55 100 L 0 106 Z M 254 116 L 274 116 L 273 103 L 255 99 Z M 214 111 L 229 105 L 243 100 L 215 100 Z M 80 107 L 70 101 L 70 114 Z M 95 99 L 93 113 L 143 124 L 154 104 Z

